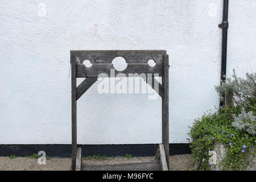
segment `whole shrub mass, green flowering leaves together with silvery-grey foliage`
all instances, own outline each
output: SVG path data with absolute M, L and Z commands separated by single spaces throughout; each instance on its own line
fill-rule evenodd
M 214 113 L 204 114 L 195 119 L 188 133 L 192 158 L 197 169 L 209 170 L 209 151 L 216 142 L 226 148 L 223 169 L 244 169 L 255 153 L 256 73 L 246 74 L 246 79 L 227 78 L 226 84 L 217 86 L 222 96 L 229 94 L 229 103 Z

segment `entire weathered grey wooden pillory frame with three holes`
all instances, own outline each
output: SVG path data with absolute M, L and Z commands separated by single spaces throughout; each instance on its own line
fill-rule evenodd
M 165 50 L 121 50 L 121 51 L 71 51 L 71 90 L 72 90 L 72 170 L 81 170 L 81 148 L 77 148 L 77 100 L 101 77 L 110 75 L 110 69 L 114 69 L 112 60 L 115 57 L 123 57 L 126 60 L 127 68 L 124 71 L 115 71 L 117 75 L 128 76 L 129 73 L 158 73 L 162 77 L 160 84 L 153 76 L 152 81 L 147 77 L 143 79 L 153 88 L 158 84 L 156 92 L 162 97 L 162 143 L 159 144 L 155 159 L 160 158 L 161 169 L 166 170 L 169 167 L 169 60 Z M 154 60 L 155 67 L 148 65 L 148 60 Z M 92 67 L 86 68 L 84 60 L 90 60 Z M 121 73 L 121 74 L 118 74 Z M 129 75 L 130 76 L 130 75 Z M 76 86 L 76 78 L 85 78 L 79 86 Z M 119 165 L 119 166 L 118 166 Z M 126 164 L 117 166 L 105 166 L 105 168 L 115 169 L 116 167 L 126 167 Z M 128 165 L 128 164 L 127 164 Z M 130 166 L 151 166 L 154 168 L 155 162 L 130 164 Z M 96 167 L 100 167 L 97 166 Z M 90 167 L 94 169 L 93 167 Z M 138 167 L 139 168 L 139 167 Z

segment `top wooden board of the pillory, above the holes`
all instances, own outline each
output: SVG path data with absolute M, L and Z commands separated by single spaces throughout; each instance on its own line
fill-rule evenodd
M 153 59 L 155 63 L 163 63 L 163 55 L 166 50 L 88 50 L 71 51 L 71 55 L 77 56 L 80 64 L 84 60 L 90 63 L 112 63 L 115 57 L 123 57 L 126 63 L 147 63 Z

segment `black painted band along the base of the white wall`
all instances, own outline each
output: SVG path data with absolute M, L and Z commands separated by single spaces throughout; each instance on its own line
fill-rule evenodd
M 154 156 L 158 144 L 78 144 L 82 156 Z M 0 156 L 31 156 L 45 151 L 47 156 L 71 157 L 71 144 L 0 144 Z M 188 143 L 171 143 L 170 155 L 191 154 Z

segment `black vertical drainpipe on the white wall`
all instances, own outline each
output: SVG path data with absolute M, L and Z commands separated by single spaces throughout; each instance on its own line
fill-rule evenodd
M 222 28 L 221 83 L 226 80 L 226 50 L 227 50 L 228 27 L 229 27 L 228 13 L 229 13 L 229 0 L 224 0 L 222 23 L 218 25 L 218 27 Z M 224 101 L 220 101 L 220 106 L 223 106 L 224 104 L 225 104 L 225 96 L 224 96 Z

